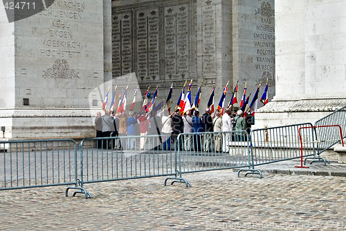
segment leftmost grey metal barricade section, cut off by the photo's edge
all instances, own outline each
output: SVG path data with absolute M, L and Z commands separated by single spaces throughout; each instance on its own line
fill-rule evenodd
M 0 142 L 0 190 L 75 185 L 77 144 L 73 139 Z

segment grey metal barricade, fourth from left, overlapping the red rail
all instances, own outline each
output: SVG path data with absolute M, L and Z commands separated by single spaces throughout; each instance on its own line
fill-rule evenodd
M 301 157 L 299 129 L 312 126 L 311 123 L 300 123 L 289 126 L 262 128 L 251 131 L 251 170 L 247 174 L 258 174 L 255 166 L 270 164 Z M 313 129 L 302 130 L 304 139 L 304 156 L 314 155 Z M 241 171 L 247 171 L 241 170 Z M 238 172 L 239 176 L 240 171 Z M 262 178 L 262 173 L 260 173 Z

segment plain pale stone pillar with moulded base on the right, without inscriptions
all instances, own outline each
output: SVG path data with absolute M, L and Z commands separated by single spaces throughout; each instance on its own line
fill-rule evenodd
M 275 4 L 276 94 L 256 127 L 314 122 L 346 105 L 346 2 Z

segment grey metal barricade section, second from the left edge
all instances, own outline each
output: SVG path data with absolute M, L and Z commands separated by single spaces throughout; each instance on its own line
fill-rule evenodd
M 177 176 L 176 154 L 169 148 L 169 138 L 145 135 L 83 139 L 80 144 L 80 186 L 93 182 Z

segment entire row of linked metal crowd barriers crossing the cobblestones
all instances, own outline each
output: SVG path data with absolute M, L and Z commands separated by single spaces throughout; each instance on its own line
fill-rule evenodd
M 345 112 L 346 107 L 317 121 L 318 130 L 311 123 L 301 123 L 256 129 L 250 135 L 245 131 L 182 133 L 174 144 L 170 137 L 159 135 L 89 138 L 80 146 L 73 139 L 0 142 L 0 190 L 72 185 L 66 196 L 75 189 L 73 196 L 81 193 L 92 198 L 84 189 L 86 183 L 168 176 L 164 185 L 173 180 L 172 184 L 183 182 L 188 187 L 183 173 L 233 168 L 247 168 L 240 169 L 238 176 L 247 171 L 246 175 L 262 178 L 255 166 L 319 155 L 340 142 L 345 138 Z M 338 126 L 341 132 L 329 128 Z

